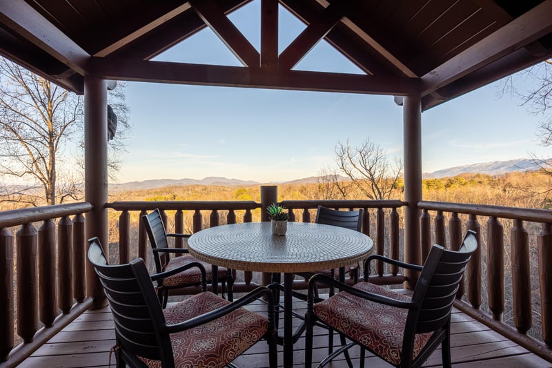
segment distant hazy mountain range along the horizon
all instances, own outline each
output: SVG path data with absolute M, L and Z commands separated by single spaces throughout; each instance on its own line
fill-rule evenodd
M 534 171 L 539 166 L 532 159 L 512 159 L 510 161 L 493 161 L 479 164 L 470 164 L 455 166 L 434 171 L 433 173 L 424 173 L 424 179 L 435 179 L 440 177 L 453 177 L 464 173 L 481 173 L 488 175 L 502 175 L 513 171 Z M 346 180 L 346 177 L 342 177 Z M 309 184 L 317 182 L 317 177 L 304 177 L 302 179 L 291 180 L 289 182 L 278 183 L 259 183 L 253 180 L 228 179 L 226 177 L 206 177 L 197 179 L 155 179 L 144 180 L 143 182 L 126 182 L 121 184 L 110 184 L 112 189 L 120 191 L 136 189 L 154 189 L 164 186 L 184 186 L 184 185 L 213 185 L 213 186 L 253 186 L 259 184 Z

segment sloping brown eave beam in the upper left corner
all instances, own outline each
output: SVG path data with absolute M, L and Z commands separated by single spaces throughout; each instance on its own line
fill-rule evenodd
M 88 52 L 23 0 L 0 1 L 0 23 L 48 52 L 80 75 L 86 75 Z

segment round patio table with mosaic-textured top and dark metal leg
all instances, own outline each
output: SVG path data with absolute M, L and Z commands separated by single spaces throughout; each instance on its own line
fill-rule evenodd
M 215 226 L 188 239 L 195 258 L 244 271 L 284 273 L 284 367 L 293 365 L 291 313 L 295 273 L 339 269 L 368 258 L 368 235 L 338 226 L 288 222 L 286 235 L 272 234 L 270 222 Z

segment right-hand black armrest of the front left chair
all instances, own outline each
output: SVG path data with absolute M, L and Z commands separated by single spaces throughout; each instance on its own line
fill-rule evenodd
M 204 313 L 201 316 L 194 317 L 185 322 L 175 323 L 175 325 L 166 325 L 164 327 L 164 330 L 167 331 L 168 333 L 175 333 L 179 331 L 184 331 L 186 329 L 191 329 L 199 325 L 203 325 L 204 323 L 207 323 L 212 320 L 216 320 L 217 318 L 220 318 L 222 316 L 225 316 L 231 311 L 235 311 L 236 309 L 241 308 L 244 305 L 249 304 L 250 302 L 253 302 L 253 300 L 257 300 L 262 296 L 265 296 L 268 300 L 268 321 L 269 321 L 269 324 L 271 324 L 273 322 L 270 322 L 270 321 L 274 320 L 273 291 L 268 289 L 268 287 L 257 287 L 257 289 L 250 291 L 245 296 L 243 296 L 242 298 L 239 298 L 235 302 L 231 302 L 230 304 L 226 304 L 224 307 L 220 307 L 219 309 L 215 309 L 214 311 Z

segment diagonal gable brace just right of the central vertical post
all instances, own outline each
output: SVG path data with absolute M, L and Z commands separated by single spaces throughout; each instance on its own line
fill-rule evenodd
M 279 56 L 278 66 L 284 70 L 293 68 L 328 32 L 343 18 L 342 3 L 332 3 L 311 22 Z

